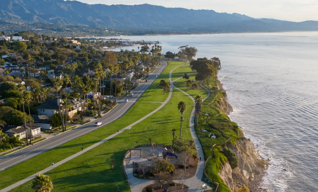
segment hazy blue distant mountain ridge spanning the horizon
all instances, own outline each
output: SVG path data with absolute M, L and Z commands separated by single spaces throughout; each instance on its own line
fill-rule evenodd
M 2 0 L 0 18 L 27 22 L 100 25 L 126 30 L 194 32 L 318 31 L 318 22 L 255 19 L 238 13 L 163 6 L 86 4 L 63 0 Z

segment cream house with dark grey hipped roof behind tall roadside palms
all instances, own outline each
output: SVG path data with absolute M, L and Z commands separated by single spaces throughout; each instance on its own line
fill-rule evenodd
M 59 113 L 59 104 L 61 104 L 61 99 L 46 99 L 45 103 L 35 106 L 37 108 L 38 114 L 52 116 L 55 113 Z

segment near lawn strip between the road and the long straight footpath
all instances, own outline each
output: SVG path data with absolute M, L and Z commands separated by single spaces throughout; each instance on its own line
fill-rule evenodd
M 34 173 L 37 173 L 47 167 L 52 162 L 59 162 L 84 148 L 93 145 L 94 143 L 105 139 L 117 130 L 120 130 L 131 123 L 139 120 L 143 116 L 154 111 L 160 103 L 135 103 L 127 113 L 120 119 L 100 127 L 99 129 L 85 134 L 81 137 L 73 139 L 63 145 L 53 148 L 45 153 L 39 154 L 29 160 L 21 162 L 11 168 L 0 172 L 0 189 L 10 186 Z

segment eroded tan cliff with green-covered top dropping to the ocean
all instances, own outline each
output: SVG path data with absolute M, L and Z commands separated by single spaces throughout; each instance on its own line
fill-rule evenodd
M 243 131 L 227 116 L 233 109 L 221 82 L 217 80 L 212 84 L 211 96 L 202 106 L 202 112 L 208 113 L 208 116 L 203 117 L 205 123 L 196 125 L 205 160 L 211 156 L 211 147 L 214 146 L 212 156 L 206 162 L 205 176 L 212 180 L 212 188 L 217 186 L 213 183 L 219 184 L 218 192 L 235 192 L 244 185 L 255 192 L 266 161 L 258 155 L 252 141 L 246 139 Z M 201 129 L 207 133 L 200 133 Z M 211 139 L 211 134 L 216 138 Z M 224 151 L 225 147 L 230 149 L 232 156 Z

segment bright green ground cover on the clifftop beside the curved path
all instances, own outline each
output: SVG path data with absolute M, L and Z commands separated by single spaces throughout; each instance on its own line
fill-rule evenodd
M 215 81 L 211 82 L 210 85 L 213 84 L 215 85 Z M 197 135 L 199 135 L 199 140 L 203 148 L 205 160 L 209 156 L 211 156 L 211 147 L 214 144 L 224 144 L 224 142 L 228 139 L 230 139 L 230 142 L 233 144 L 239 139 L 239 135 L 243 135 L 238 125 L 228 118 L 228 116 L 224 112 L 224 109 L 220 108 L 222 102 L 224 102 L 225 100 L 224 97 L 225 95 L 223 91 L 216 91 L 215 93 L 211 91 L 210 97 L 207 100 L 205 100 L 202 105 L 202 126 L 200 125 L 201 120 L 199 120 L 199 125 L 195 125 L 196 133 Z M 205 116 L 205 113 L 210 114 L 208 116 Z M 208 133 L 201 133 L 200 128 L 203 128 L 204 130 L 208 131 Z M 209 138 L 210 133 L 216 135 L 217 138 Z M 222 179 L 218 176 L 218 172 L 222 169 L 222 165 L 226 161 L 226 157 L 223 153 L 221 153 L 221 148 L 216 146 L 213 148 L 212 158 L 206 164 L 205 171 L 207 175 L 213 181 L 219 183 L 218 192 L 231 191 L 227 187 L 227 185 L 222 181 Z M 216 187 L 214 183 L 211 183 L 210 186 Z

